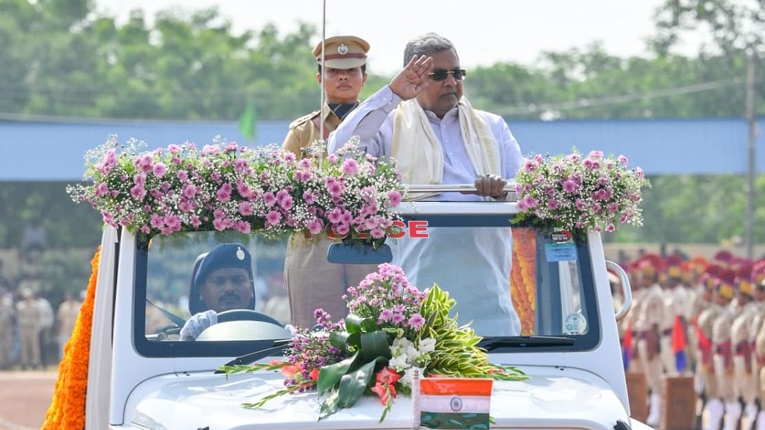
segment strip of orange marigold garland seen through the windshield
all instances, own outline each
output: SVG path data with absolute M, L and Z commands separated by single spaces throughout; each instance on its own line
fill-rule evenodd
M 521 320 L 521 335 L 534 334 L 536 311 L 536 238 L 533 228 L 513 227 L 510 297 Z

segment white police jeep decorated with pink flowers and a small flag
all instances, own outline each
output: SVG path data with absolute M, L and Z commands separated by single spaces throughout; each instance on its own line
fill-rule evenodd
M 428 241 L 435 243 L 439 235 L 448 238 L 446 243 L 451 246 L 425 251 L 445 253 L 444 260 L 449 262 L 435 273 L 438 284 L 446 290 L 468 289 L 480 297 L 485 293 L 481 286 L 450 282 L 483 270 L 483 262 L 476 263 L 473 251 L 491 244 L 483 243 L 485 235 L 480 232 L 508 231 L 517 212 L 513 202 L 405 203 L 401 212 L 404 228 L 396 235 L 404 236 L 398 241 L 427 245 Z M 417 222 L 412 225 L 410 221 Z M 516 228 L 524 226 L 513 225 Z M 415 238 L 409 237 L 414 231 Z M 491 362 L 517 366 L 529 376 L 522 382 L 494 382 L 492 428 L 648 428 L 630 418 L 617 334 L 617 318 L 630 306 L 626 274 L 605 260 L 597 232 L 589 232 L 586 238 L 540 231 L 531 236 L 534 241 L 526 243 L 526 255 L 513 256 L 516 265 L 522 261 L 525 273 L 520 276 L 528 280 L 532 273 L 531 284 L 513 286 L 522 289 L 513 296 L 524 333 L 494 333 L 482 342 Z M 257 301 L 251 312 L 261 321 L 222 317 L 197 341 L 178 340 L 181 325 L 190 317 L 187 301 L 195 258 L 216 244 L 231 242 L 243 244 L 252 255 Z M 396 263 L 396 244 L 392 239 L 389 242 Z M 271 348 L 272 354 L 254 357 L 260 361 L 283 359 L 280 348 L 274 347 L 289 337 L 285 328 L 288 296 L 278 282 L 285 244 L 285 240 L 263 240 L 258 234 L 198 231 L 148 238 L 106 228 L 93 315 L 86 428 L 412 428 L 412 399 L 407 396 L 396 398 L 382 422 L 378 422 L 382 406 L 373 396 L 363 396 L 352 408 L 318 421 L 315 392 L 280 396 L 260 409 L 241 406 L 282 388 L 278 371 L 229 378 L 215 373 L 216 367 L 253 351 Z M 509 241 L 506 245 L 504 251 L 513 249 Z M 493 262 L 493 267 L 503 261 Z M 607 275 L 609 265 L 620 273 L 624 286 L 625 305 L 617 315 Z M 509 263 L 503 270 L 510 279 Z M 418 273 L 407 276 L 412 283 L 421 279 Z M 510 285 L 487 287 L 490 291 Z M 497 297 L 505 296 L 489 295 L 487 300 Z M 485 312 L 493 307 L 486 306 Z M 470 311 L 465 313 L 480 315 L 484 309 Z

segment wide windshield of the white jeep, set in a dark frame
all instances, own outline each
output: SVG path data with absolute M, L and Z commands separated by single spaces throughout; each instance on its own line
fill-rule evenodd
M 456 299 L 453 312 L 458 321 L 470 323 L 484 338 L 566 336 L 574 342 L 546 346 L 575 351 L 594 348 L 600 325 L 586 241 L 565 231 L 511 228 L 513 214 L 508 208 L 514 205 L 494 205 L 500 209 L 448 213 L 441 208 L 436 213 L 417 210 L 402 216 L 386 239 L 390 262 L 402 267 L 418 289 L 436 283 L 448 291 Z M 452 203 L 451 207 L 465 206 Z M 346 287 L 327 286 L 327 280 L 357 283 L 375 271 L 376 264 L 349 263 L 362 262 L 369 254 L 347 247 L 330 251 L 330 260 L 339 259 L 338 263 L 301 265 L 305 254 L 291 248 L 312 241 L 329 242 L 306 234 L 276 239 L 220 231 L 139 235 L 135 265 L 138 351 L 150 356 L 244 354 L 287 338 L 285 326 L 311 327 L 315 320 L 308 314 L 316 308 L 330 312 L 335 320 L 343 318 Z M 230 250 L 227 258 L 240 267 L 239 272 L 210 276 L 213 270 L 204 267 L 204 260 L 210 258 L 204 256 L 222 245 Z M 320 248 L 322 255 L 327 254 L 326 247 Z M 226 286 L 218 288 L 215 283 Z M 224 310 L 224 304 L 236 310 Z M 202 318 L 199 315 L 211 309 L 217 309 L 218 321 L 198 330 L 195 341 L 182 339 L 187 320 Z

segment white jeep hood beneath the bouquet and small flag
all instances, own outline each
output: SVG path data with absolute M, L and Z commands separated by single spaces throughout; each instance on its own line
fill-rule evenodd
M 629 422 L 613 390 L 593 373 L 566 367 L 524 366 L 529 380 L 495 381 L 491 397 L 492 428 L 590 428 L 610 430 Z M 282 375 L 262 371 L 247 375 L 212 372 L 172 373 L 153 377 L 133 390 L 125 405 L 125 425 L 151 429 L 207 428 L 412 428 L 412 400 L 399 396 L 385 421 L 382 406 L 363 396 L 353 408 L 317 422 L 315 391 L 269 400 L 261 409 L 245 409 L 283 388 Z

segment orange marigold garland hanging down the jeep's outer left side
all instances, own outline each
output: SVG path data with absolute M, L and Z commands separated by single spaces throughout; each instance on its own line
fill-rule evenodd
M 45 414 L 41 430 L 80 430 L 85 428 L 85 396 L 88 385 L 90 358 L 90 331 L 93 326 L 93 302 L 96 299 L 96 281 L 101 247 L 96 250 L 90 265 L 93 268 L 88 281 L 87 295 L 72 336 L 63 347 L 63 358 L 58 365 L 58 380 L 53 400 Z

